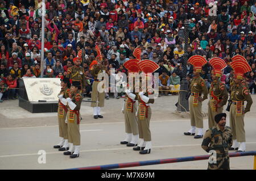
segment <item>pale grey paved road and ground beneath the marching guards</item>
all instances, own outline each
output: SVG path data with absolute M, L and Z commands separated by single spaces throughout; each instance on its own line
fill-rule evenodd
M 256 95 L 251 112 L 246 113 L 246 148 L 256 150 Z M 69 169 L 73 167 L 112 163 L 146 161 L 207 154 L 201 149 L 202 139 L 183 136 L 188 131 L 189 117 L 177 116 L 174 111 L 177 96 L 162 96 L 152 104 L 152 153 L 139 155 L 131 148 L 119 145 L 124 138 L 123 99 L 105 100 L 104 119 L 94 120 L 89 103 L 82 103 L 81 154 L 69 159 L 52 146 L 59 142 L 56 113 L 30 113 L 18 107 L 18 100 L 0 103 L 0 169 Z M 207 112 L 207 102 L 203 104 Z M 204 120 L 204 131 L 208 128 Z M 229 117 L 228 124 L 229 125 Z M 46 151 L 46 164 L 39 164 L 39 150 Z M 253 157 L 230 158 L 231 169 L 252 169 Z M 206 169 L 207 161 L 168 163 L 130 169 Z M 129 168 L 127 168 L 129 169 Z

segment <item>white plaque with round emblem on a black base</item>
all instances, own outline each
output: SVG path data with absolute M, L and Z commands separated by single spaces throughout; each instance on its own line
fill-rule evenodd
M 58 101 L 60 78 L 23 78 L 30 102 Z

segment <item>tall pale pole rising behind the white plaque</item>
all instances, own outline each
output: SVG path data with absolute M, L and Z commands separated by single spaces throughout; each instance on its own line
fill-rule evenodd
M 41 36 L 41 78 L 44 76 L 44 16 L 46 15 L 46 1 L 42 1 L 42 36 Z

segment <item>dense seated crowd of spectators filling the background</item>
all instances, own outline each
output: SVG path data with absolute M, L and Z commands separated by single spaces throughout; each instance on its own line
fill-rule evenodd
M 97 56 L 95 45 L 101 49 L 102 65 L 109 75 L 110 68 L 116 74 L 127 73 L 122 64 L 134 58 L 133 50 L 139 47 L 142 60 L 150 59 L 160 66 L 159 86 L 175 86 L 170 82 L 179 85 L 185 20 L 189 21 L 189 57 L 199 54 L 207 60 L 224 59 L 228 67 L 221 81 L 229 89 L 234 73 L 229 62 L 241 54 L 252 68 L 246 74 L 250 92 L 256 89 L 255 1 L 46 0 L 43 20 L 42 0 L 0 0 L 0 98 L 16 99 L 18 89 L 13 88 L 19 87 L 20 78 L 40 77 L 42 41 L 44 77 L 65 76 L 77 52 L 83 50 L 81 66 L 88 95 L 93 81 L 89 65 Z M 208 88 L 210 70 L 207 64 L 201 74 Z M 188 81 L 192 74 L 193 67 L 187 65 Z

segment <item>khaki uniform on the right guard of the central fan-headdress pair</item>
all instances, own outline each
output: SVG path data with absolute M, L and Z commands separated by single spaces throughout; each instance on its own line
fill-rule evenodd
M 148 96 L 148 93 L 146 92 L 144 94 L 145 96 Z M 143 100 L 141 100 L 141 97 L 138 96 L 138 127 L 139 127 L 139 138 L 142 138 L 144 141 L 151 141 L 151 132 L 150 132 L 150 118 L 151 118 L 151 108 L 149 104 L 153 104 L 155 102 L 155 99 L 149 99 L 148 103 L 145 104 Z

